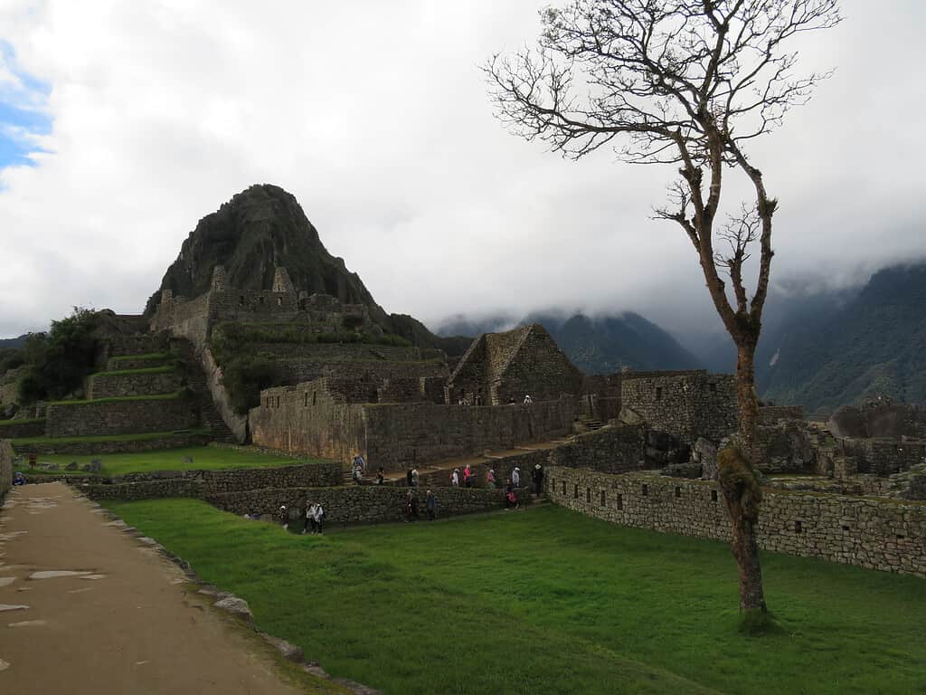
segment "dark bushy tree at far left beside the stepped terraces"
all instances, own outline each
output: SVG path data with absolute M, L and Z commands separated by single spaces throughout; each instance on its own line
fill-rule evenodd
M 99 338 L 94 310 L 74 307 L 71 315 L 53 321 L 47 333 L 32 333 L 22 347 L 28 366 L 19 380 L 19 402 L 64 398 L 81 389 L 94 369 Z

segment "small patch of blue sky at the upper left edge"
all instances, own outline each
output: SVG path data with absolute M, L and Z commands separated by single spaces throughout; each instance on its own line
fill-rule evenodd
M 51 133 L 51 85 L 19 69 L 13 47 L 0 41 L 0 169 L 34 166 L 38 139 Z

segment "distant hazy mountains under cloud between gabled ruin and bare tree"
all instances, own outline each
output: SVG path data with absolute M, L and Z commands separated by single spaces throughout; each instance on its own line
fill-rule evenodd
M 635 370 L 695 369 L 702 362 L 655 323 L 635 313 L 618 316 L 571 316 L 536 312 L 521 320 L 499 314 L 482 320 L 456 316 L 438 335 L 480 335 L 527 323 L 541 323 L 569 360 L 582 372 L 607 374 L 622 367 Z

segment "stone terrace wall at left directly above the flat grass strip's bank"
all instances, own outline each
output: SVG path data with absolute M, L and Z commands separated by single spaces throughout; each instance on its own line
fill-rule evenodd
M 108 436 L 188 429 L 199 415 L 187 398 L 151 398 L 49 403 L 46 419 L 48 436 Z

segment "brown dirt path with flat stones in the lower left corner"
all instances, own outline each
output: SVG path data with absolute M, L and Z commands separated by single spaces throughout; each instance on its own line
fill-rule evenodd
M 244 627 L 184 590 L 175 565 L 67 486 L 19 487 L 5 507 L 0 692 L 303 692 Z M 36 574 L 56 571 L 85 574 Z

